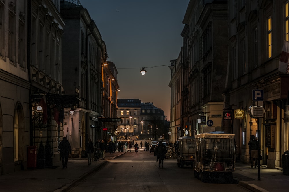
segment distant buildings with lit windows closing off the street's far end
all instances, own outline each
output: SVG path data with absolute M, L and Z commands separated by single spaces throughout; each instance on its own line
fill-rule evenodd
M 169 125 L 162 109 L 140 99 L 118 99 L 117 103 L 118 139 L 157 140 L 163 134 L 168 139 Z

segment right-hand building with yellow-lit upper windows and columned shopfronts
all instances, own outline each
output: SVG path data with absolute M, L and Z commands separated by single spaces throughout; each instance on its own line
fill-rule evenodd
M 244 119 L 233 119 L 231 127 L 239 138 L 240 160 L 249 162 L 247 144 L 254 135 L 260 142 L 261 163 L 271 168 L 282 167 L 281 156 L 289 147 L 288 74 L 278 70 L 282 47 L 289 41 L 288 8 L 289 1 L 228 1 L 224 108 L 234 112 L 264 107 L 264 116 L 247 112 Z M 262 90 L 262 98 L 253 96 L 256 90 Z

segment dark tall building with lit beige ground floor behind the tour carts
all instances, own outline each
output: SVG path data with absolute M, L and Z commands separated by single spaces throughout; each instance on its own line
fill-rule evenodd
M 227 75 L 227 2 L 190 1 L 183 24 L 181 135 L 221 131 Z M 198 121 L 201 117 L 205 125 Z M 211 123 L 206 125 L 206 121 Z

